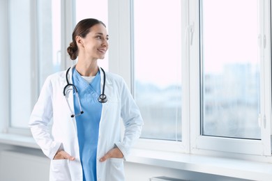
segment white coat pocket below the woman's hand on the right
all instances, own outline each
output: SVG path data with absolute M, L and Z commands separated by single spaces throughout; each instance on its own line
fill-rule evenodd
M 109 159 L 109 178 L 114 181 L 125 180 L 123 172 L 123 158 L 110 158 Z

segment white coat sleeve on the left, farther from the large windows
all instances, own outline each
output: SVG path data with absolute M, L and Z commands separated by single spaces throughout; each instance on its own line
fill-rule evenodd
M 56 151 L 59 150 L 61 146 L 61 143 L 57 143 L 52 139 L 50 129 L 52 115 L 52 84 L 50 78 L 47 78 L 40 91 L 38 101 L 33 107 L 29 127 L 36 143 L 50 159 L 54 158 Z

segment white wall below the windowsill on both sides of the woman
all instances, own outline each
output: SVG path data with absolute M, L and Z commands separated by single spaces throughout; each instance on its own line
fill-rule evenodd
M 47 159 L 41 150 L 0 144 L 1 181 L 47 181 L 49 180 L 49 166 L 50 159 Z M 199 181 L 241 180 L 132 162 L 125 162 L 125 171 L 128 181 L 149 181 L 149 178 L 158 176 Z

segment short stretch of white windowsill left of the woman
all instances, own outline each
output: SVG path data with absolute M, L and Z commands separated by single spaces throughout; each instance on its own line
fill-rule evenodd
M 8 145 L 18 145 L 27 148 L 38 148 L 39 146 L 31 136 L 22 136 L 19 134 L 0 134 L 0 143 Z

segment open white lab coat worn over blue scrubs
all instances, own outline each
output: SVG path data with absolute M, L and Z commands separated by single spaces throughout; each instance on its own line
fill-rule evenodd
M 72 69 L 68 73 L 70 83 L 73 82 Z M 103 90 L 103 76 L 104 74 L 101 74 L 101 91 Z M 40 145 L 44 154 L 52 159 L 50 180 L 81 181 L 83 176 L 77 140 L 77 124 L 75 118 L 70 117 L 70 109 L 63 95 L 63 88 L 66 84 L 66 71 L 47 77 L 38 102 L 31 113 L 29 127 L 31 127 L 33 138 Z M 68 101 L 73 110 L 72 92 L 70 91 L 68 95 Z M 107 102 L 103 104 L 98 135 L 97 178 L 100 181 L 122 181 L 125 180 L 123 159 L 128 157 L 131 146 L 139 138 L 143 120 L 128 87 L 118 75 L 106 72 L 105 95 L 107 95 Z M 123 136 L 120 130 L 121 118 L 125 127 Z M 99 162 L 99 159 L 114 146 L 121 150 L 124 158 L 111 158 L 105 162 Z M 54 160 L 53 157 L 59 149 L 75 157 L 75 161 Z

